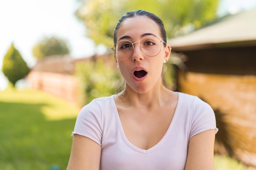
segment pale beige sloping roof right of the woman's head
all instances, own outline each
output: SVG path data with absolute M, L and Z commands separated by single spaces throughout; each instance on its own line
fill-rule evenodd
M 222 17 L 188 35 L 170 39 L 175 50 L 216 46 L 256 46 L 256 9 Z

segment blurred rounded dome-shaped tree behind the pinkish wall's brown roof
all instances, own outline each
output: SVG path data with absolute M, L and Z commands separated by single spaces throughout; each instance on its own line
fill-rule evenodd
M 64 55 L 69 54 L 70 49 L 67 46 L 67 42 L 57 37 L 43 37 L 33 47 L 33 55 L 36 59 L 43 59 L 52 55 Z

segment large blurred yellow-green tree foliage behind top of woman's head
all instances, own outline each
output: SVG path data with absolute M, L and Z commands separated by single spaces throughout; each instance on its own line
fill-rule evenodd
M 76 16 L 96 44 L 112 46 L 113 30 L 127 11 L 144 9 L 159 16 L 169 38 L 215 19 L 219 0 L 80 0 Z

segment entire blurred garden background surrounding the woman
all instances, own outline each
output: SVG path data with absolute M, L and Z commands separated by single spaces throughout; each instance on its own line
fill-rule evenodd
M 164 22 L 166 86 L 213 107 L 216 169 L 255 169 L 256 0 L 1 1 L 0 169 L 65 169 L 79 110 L 119 87 L 112 34 L 135 9 Z

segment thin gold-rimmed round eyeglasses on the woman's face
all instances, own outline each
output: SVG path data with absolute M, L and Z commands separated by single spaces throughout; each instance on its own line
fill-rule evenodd
M 130 58 L 134 51 L 134 44 L 139 43 L 141 51 L 146 54 L 148 57 L 154 57 L 161 51 L 161 42 L 159 38 L 155 36 L 145 37 L 140 42 L 133 42 L 129 40 L 120 40 L 115 43 L 111 48 L 118 59 L 126 60 Z M 166 44 L 164 42 L 164 44 Z

